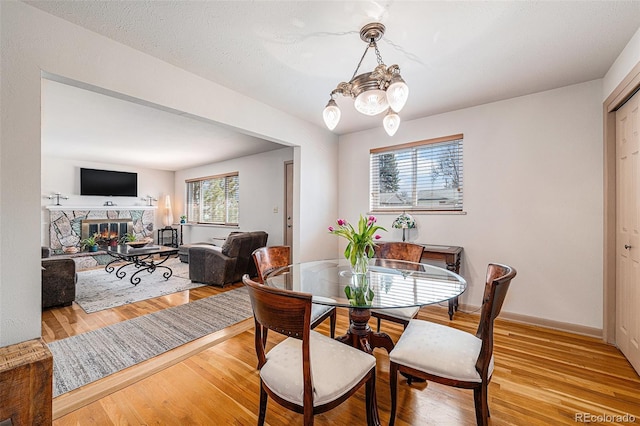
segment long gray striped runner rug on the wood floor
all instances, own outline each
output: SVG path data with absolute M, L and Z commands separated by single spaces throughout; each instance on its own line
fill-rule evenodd
M 251 302 L 243 287 L 49 343 L 53 396 L 251 316 Z

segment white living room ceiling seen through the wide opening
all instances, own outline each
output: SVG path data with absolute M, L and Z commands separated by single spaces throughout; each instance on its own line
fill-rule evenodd
M 226 127 L 42 79 L 42 154 L 182 170 L 284 146 Z

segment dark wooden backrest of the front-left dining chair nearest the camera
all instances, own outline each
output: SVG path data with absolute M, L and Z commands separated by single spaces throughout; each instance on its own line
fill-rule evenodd
M 253 281 L 247 274 L 242 277 L 242 282 L 247 287 L 253 308 L 258 369 L 262 368 L 266 362 L 262 339 L 262 330 L 266 328 L 287 337 L 302 340 L 303 372 L 306 377 L 311 377 L 309 362 L 311 295 L 268 287 Z

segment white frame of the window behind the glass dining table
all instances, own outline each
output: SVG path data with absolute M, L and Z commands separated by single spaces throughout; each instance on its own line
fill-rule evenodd
M 413 182 L 411 183 L 411 191 L 412 191 L 412 204 L 411 205 L 398 205 L 393 207 L 381 207 L 380 204 L 380 176 L 378 175 L 374 179 L 374 171 L 376 170 L 374 167 L 374 156 L 376 159 L 379 159 L 380 154 L 384 153 L 404 153 L 407 150 L 411 150 L 414 148 L 425 147 L 429 145 L 441 144 L 446 142 L 454 142 L 460 141 L 459 151 L 457 153 L 457 161 L 458 161 L 458 173 L 459 173 L 459 186 L 458 192 L 459 195 L 459 206 L 447 205 L 443 208 L 424 208 L 420 207 L 417 203 L 417 191 L 420 190 L 418 186 L 418 175 L 417 171 L 414 171 L 416 175 L 413 176 Z M 414 152 L 414 160 L 412 168 L 418 169 L 418 160 L 417 160 L 417 150 Z M 443 136 L 439 138 L 426 139 L 416 142 L 409 142 L 399 145 L 385 146 L 380 148 L 373 148 L 369 150 L 369 209 L 372 213 L 376 214 L 384 214 L 384 213 L 402 213 L 402 212 L 411 212 L 411 213 L 419 213 L 419 214 L 464 214 L 464 135 L 462 133 Z M 379 173 L 379 169 L 377 169 Z M 377 192 L 376 192 L 377 191 Z M 377 197 L 377 200 L 376 200 Z M 377 203 L 377 204 L 376 204 Z

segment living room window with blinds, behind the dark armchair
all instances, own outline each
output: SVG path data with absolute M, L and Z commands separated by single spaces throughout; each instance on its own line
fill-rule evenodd
M 187 183 L 187 220 L 220 225 L 238 224 L 238 173 L 191 179 Z

